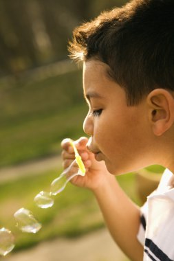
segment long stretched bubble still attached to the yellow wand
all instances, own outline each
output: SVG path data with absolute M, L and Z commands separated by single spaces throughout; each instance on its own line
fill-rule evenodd
M 74 160 L 58 178 L 52 181 L 50 194 L 55 196 L 56 194 L 61 193 L 65 189 L 67 183 L 77 175 L 84 176 L 83 172 L 81 172 L 78 167 L 78 163 Z

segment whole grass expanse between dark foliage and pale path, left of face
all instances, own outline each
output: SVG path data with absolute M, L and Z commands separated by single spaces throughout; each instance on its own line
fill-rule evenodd
M 0 96 L 0 167 L 54 155 L 64 137 L 83 135 L 80 70 L 0 87 Z

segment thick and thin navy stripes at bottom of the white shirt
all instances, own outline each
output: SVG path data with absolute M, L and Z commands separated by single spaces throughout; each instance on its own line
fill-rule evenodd
M 146 238 L 145 246 L 147 248 L 149 248 L 151 253 L 153 253 L 153 255 L 156 256 L 158 259 L 160 259 L 162 261 L 173 261 L 170 258 L 168 258 L 168 256 L 166 256 L 166 254 L 159 247 L 157 247 L 157 245 L 155 245 L 155 243 L 151 239 Z M 147 249 L 146 249 L 145 252 L 149 253 L 149 251 Z M 151 260 L 153 260 L 153 259 L 151 258 Z

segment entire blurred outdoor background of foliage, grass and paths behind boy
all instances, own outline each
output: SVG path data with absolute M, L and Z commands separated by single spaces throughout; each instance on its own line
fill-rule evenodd
M 82 68 L 67 53 L 72 30 L 126 2 L 0 0 L 0 227 L 16 238 L 14 251 L 0 260 L 127 260 L 105 231 L 89 191 L 67 185 L 51 209 L 33 202 L 61 174 L 61 140 L 84 135 Z M 118 181 L 140 204 L 135 174 Z M 15 227 L 20 207 L 41 221 L 38 234 Z

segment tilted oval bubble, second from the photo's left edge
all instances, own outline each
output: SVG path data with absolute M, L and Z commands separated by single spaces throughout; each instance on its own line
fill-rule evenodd
M 17 227 L 23 232 L 36 233 L 41 229 L 41 223 L 34 218 L 30 210 L 21 208 L 14 213 L 14 218 L 17 221 Z

